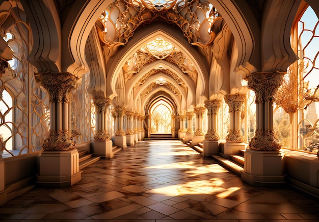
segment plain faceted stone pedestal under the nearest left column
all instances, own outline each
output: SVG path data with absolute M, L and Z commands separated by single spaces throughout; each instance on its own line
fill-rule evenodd
M 82 171 L 78 167 L 78 152 L 43 151 L 39 157 L 37 183 L 45 187 L 72 186 L 81 180 Z

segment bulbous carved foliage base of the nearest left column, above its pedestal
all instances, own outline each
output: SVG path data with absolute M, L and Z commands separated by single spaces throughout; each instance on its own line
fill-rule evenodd
M 44 151 L 69 151 L 74 149 L 75 142 L 68 130 L 51 130 L 42 144 Z

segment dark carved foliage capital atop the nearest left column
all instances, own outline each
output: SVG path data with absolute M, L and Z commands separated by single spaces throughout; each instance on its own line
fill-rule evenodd
M 67 72 L 37 73 L 35 79 L 48 91 L 51 103 L 68 103 L 69 94 L 76 89 L 78 80 L 76 76 Z

